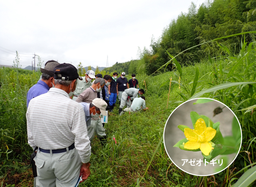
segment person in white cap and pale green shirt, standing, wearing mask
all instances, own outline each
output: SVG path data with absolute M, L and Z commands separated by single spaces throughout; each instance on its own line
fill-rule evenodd
M 95 72 L 93 70 L 88 70 L 86 75 L 82 77 L 83 80 L 78 80 L 76 85 L 76 89 L 74 91 L 73 100 L 75 101 L 78 96 L 87 88 L 89 88 L 93 83 L 91 82 L 93 79 L 96 79 Z

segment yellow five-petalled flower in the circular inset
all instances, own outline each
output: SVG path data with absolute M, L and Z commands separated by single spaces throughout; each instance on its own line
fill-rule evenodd
M 200 148 L 204 155 L 209 155 L 212 147 L 209 143 L 214 138 L 216 130 L 211 127 L 206 128 L 206 124 L 202 118 L 198 119 L 195 124 L 195 129 L 185 128 L 184 135 L 189 140 L 185 143 L 184 148 L 196 150 Z

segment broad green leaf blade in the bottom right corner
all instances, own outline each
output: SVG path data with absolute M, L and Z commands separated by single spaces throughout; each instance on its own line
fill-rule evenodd
M 256 180 L 256 167 L 252 167 L 247 170 L 231 187 L 247 187 Z

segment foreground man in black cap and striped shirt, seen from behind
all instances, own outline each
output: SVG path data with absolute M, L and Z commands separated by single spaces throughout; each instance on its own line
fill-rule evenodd
M 82 80 L 71 64 L 54 67 L 55 88 L 32 99 L 27 108 L 29 145 L 38 147 L 34 158 L 37 186 L 76 186 L 90 175 L 90 140 L 83 108 L 69 99 Z

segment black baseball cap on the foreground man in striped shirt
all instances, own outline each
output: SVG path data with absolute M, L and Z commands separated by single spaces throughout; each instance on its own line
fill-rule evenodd
M 53 69 L 54 72 L 54 79 L 61 79 L 61 80 L 83 80 L 82 77 L 78 75 L 77 69 L 72 64 L 59 64 L 56 65 Z M 58 76 L 57 74 L 60 74 L 61 76 Z

